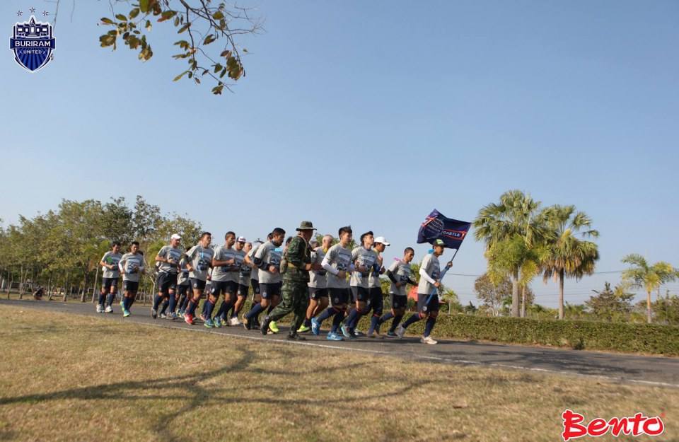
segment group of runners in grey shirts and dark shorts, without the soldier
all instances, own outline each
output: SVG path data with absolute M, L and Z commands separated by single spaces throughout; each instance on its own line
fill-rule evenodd
M 265 335 L 278 333 L 277 323 L 267 320 L 266 315 L 281 301 L 286 246 L 292 239 L 288 238 L 284 245 L 285 235 L 284 229 L 274 228 L 265 242 L 250 243 L 243 236 L 236 237 L 236 233 L 228 231 L 224 244 L 211 248 L 211 233 L 203 232 L 197 245 L 189 250 L 182 248 L 180 235 L 172 235 L 170 243 L 155 257 L 158 291 L 153 297 L 151 316 L 168 320 L 182 318 L 187 324 L 195 324 L 196 309 L 209 284 L 199 315 L 205 327 L 243 325 L 247 330 L 260 329 L 260 314 L 264 312 L 265 319 L 261 321 L 264 328 L 260 331 Z M 315 240 L 304 240 L 311 250 L 308 308 L 303 324 L 291 333 L 291 337 L 301 339 L 297 332 L 320 335 L 323 322 L 332 318 L 328 340 L 356 339 L 362 335 L 356 330 L 359 320 L 364 315 L 371 315 L 368 337 L 379 336 L 381 325 L 392 320 L 385 335 L 401 338 L 409 325 L 426 319 L 421 340 L 425 344 L 436 344 L 430 335 L 439 313 L 436 289 L 440 286 L 439 256 L 445 249 L 443 241 L 436 240 L 432 252 L 422 259 L 418 283 L 410 267 L 414 258 L 412 248 L 406 248 L 401 259 L 385 266 L 383 252 L 390 243 L 384 237 L 375 237 L 371 231 L 363 233 L 361 245 L 353 250 L 349 248 L 353 240 L 351 227 L 340 228 L 338 238 L 335 245 L 332 245 L 332 235 L 323 236 L 320 244 Z M 112 313 L 118 279 L 122 275 L 120 306 L 122 315 L 127 317 L 146 268 L 139 243 L 131 243 L 129 252 L 124 254 L 120 248 L 120 243 L 113 243 L 101 259 L 103 284 L 96 308 L 98 313 Z M 382 274 L 390 279 L 390 311 L 387 313 L 383 312 Z M 401 322 L 407 308 L 409 284 L 417 286 L 417 313 Z M 252 306 L 240 315 L 250 287 Z M 220 297 L 221 304 L 215 313 Z

